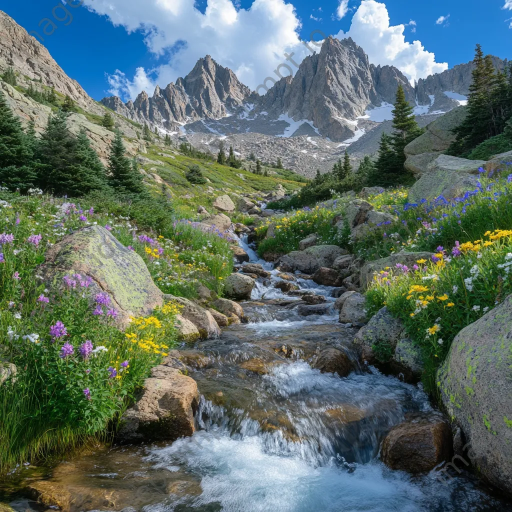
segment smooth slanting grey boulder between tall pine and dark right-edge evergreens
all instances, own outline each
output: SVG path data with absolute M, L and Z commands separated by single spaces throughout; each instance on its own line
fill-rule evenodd
M 422 135 L 407 144 L 404 153 L 406 156 L 411 156 L 446 151 L 455 141 L 455 134 L 452 130 L 464 120 L 466 115 L 466 108 L 460 106 L 432 121 L 426 125 Z

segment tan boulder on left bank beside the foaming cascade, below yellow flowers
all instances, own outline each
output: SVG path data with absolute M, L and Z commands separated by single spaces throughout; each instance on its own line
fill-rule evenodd
M 176 368 L 160 365 L 144 381 L 142 396 L 122 415 L 122 441 L 174 441 L 194 434 L 199 405 L 196 381 Z

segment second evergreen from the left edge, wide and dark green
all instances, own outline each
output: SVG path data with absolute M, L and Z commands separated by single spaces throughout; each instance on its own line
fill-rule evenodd
M 75 185 L 77 141 L 68 131 L 62 110 L 48 120 L 37 147 L 36 172 L 39 186 L 54 194 L 71 194 Z

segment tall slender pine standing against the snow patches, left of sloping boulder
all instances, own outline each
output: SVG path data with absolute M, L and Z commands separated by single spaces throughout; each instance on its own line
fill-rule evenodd
M 403 164 L 406 161 L 404 147 L 423 133 L 416 122 L 414 109 L 407 101 L 401 85 L 396 90 L 395 108 L 392 113 L 394 133 L 391 137 L 391 144 L 396 157 L 395 172 L 400 174 L 403 172 Z

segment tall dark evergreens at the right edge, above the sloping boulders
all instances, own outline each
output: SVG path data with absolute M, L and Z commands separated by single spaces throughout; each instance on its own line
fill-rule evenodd
M 480 45 L 473 62 L 467 116 L 454 130 L 456 140 L 447 151 L 451 155 L 467 156 L 485 140 L 500 135 L 512 115 L 512 66 L 504 73 L 497 71 Z

